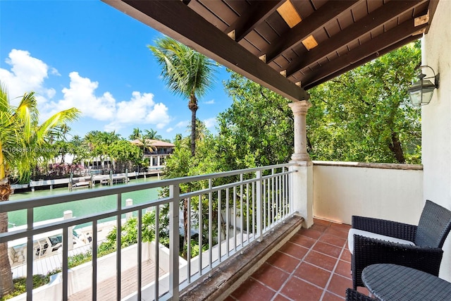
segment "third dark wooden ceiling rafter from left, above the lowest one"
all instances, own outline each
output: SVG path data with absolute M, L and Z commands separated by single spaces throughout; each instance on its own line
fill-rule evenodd
M 389 1 L 380 8 L 373 11 L 371 14 L 362 18 L 358 22 L 346 27 L 338 35 L 330 37 L 327 41 L 321 43 L 318 47 L 309 51 L 304 57 L 299 58 L 297 63 L 292 63 L 286 68 L 287 77 L 290 77 L 297 71 L 305 68 L 316 61 L 326 58 L 326 56 L 332 54 L 337 49 L 340 49 L 344 45 L 358 39 L 362 35 L 370 32 L 378 26 L 388 20 L 396 18 L 400 13 L 409 11 L 410 9 L 418 6 L 424 2 L 424 0 L 412 0 L 412 1 Z M 268 59 L 266 57 L 266 59 Z

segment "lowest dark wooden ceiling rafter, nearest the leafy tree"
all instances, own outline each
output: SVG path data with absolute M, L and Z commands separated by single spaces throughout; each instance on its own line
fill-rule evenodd
M 388 30 L 382 35 L 378 35 L 377 37 L 371 39 L 369 42 L 362 44 L 361 47 L 357 47 L 356 49 L 349 51 L 347 54 L 326 63 L 326 65 L 322 66 L 322 68 L 320 68 L 318 71 L 313 70 L 309 72 L 307 77 L 302 79 L 302 87 L 313 87 L 314 85 L 316 85 L 316 82 L 323 80 L 331 74 L 338 75 L 340 73 L 343 73 L 342 70 L 344 68 L 356 68 L 359 66 L 360 62 L 364 61 L 369 56 L 380 55 L 385 51 L 385 49 L 392 47 L 394 44 L 397 44 L 404 39 L 412 37 L 413 32 L 426 28 L 426 26 L 428 26 L 427 23 L 424 25 L 415 26 L 413 19 L 407 20 L 401 25 L 393 28 L 392 30 Z M 418 39 L 420 36 L 415 37 L 416 39 Z M 365 45 L 367 47 L 365 47 Z

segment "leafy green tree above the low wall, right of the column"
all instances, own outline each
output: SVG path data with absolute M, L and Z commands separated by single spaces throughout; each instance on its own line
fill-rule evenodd
M 409 44 L 309 90 L 309 153 L 313 159 L 420 163 L 420 111 L 407 88 L 421 61 Z

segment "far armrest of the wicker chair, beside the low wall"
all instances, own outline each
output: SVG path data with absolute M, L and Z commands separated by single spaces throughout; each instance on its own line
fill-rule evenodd
M 352 228 L 413 242 L 417 226 L 397 221 L 354 215 L 352 216 Z

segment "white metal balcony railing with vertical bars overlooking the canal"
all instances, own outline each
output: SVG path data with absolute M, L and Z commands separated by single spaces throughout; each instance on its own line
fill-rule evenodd
M 40 199 L 26 199 L 0 203 L 0 212 L 12 212 L 26 210 L 27 228 L 22 230 L 0 233 L 0 242 L 23 239 L 27 246 L 33 246 L 33 237 L 49 231 L 59 230 L 62 233 L 62 266 L 61 266 L 61 299 L 68 300 L 75 293 L 69 288 L 68 254 L 71 247 L 72 229 L 76 226 L 92 226 L 92 279 L 90 283 L 92 300 L 97 299 L 99 279 L 97 275 L 100 269 L 109 269 L 102 266 L 101 257 L 97 257 L 99 238 L 97 231 L 105 219 L 116 220 L 116 250 L 121 250 L 121 226 L 125 216 L 130 213 L 137 216 L 137 241 L 142 241 L 142 216 L 147 211 L 154 211 L 156 219 L 154 224 L 154 279 L 152 283 L 152 295 L 154 300 L 178 300 L 180 293 L 192 283 L 195 283 L 202 275 L 209 272 L 222 262 L 226 262 L 230 256 L 242 250 L 243 247 L 255 240 L 262 240 L 264 233 L 282 222 L 292 214 L 290 202 L 291 164 L 250 168 L 225 173 L 213 173 L 203 176 L 175 178 L 137 185 L 121 185 L 113 188 L 100 188 L 96 190 L 70 192 L 65 195 L 45 197 Z M 194 185 L 195 184 L 195 185 Z M 195 191 L 194 187 L 197 187 Z M 198 189 L 200 187 L 200 189 Z M 141 204 L 125 205 L 123 194 L 136 190 L 151 190 L 159 188 L 163 197 L 149 198 Z M 166 195 L 164 195 L 166 192 Z M 34 211 L 37 207 L 51 206 L 77 202 L 83 199 L 92 199 L 106 195 L 116 196 L 116 209 L 101 211 L 87 216 L 76 216 L 71 219 L 52 221 L 37 226 L 34 221 Z M 201 204 L 201 205 L 199 205 Z M 185 209 L 185 210 L 184 210 Z M 167 212 L 163 214 L 163 212 Z M 186 212 L 186 213 L 184 213 Z M 180 216 L 181 215 L 181 216 Z M 184 224 L 183 216 L 186 216 L 187 243 L 180 248 L 180 221 Z M 168 222 L 168 224 L 166 224 Z M 168 230 L 168 232 L 166 232 Z M 161 235 L 168 234 L 168 266 L 164 267 L 161 254 Z M 166 240 L 166 241 L 167 241 Z M 199 248 L 198 256 L 191 256 L 192 247 Z M 133 277 L 135 280 L 134 300 L 142 300 L 142 292 L 150 286 L 145 284 L 142 273 L 142 261 L 144 257 L 141 243 L 136 248 L 135 275 L 123 274 L 121 266 L 129 255 L 123 252 L 116 253 L 116 266 L 111 269 L 111 276 L 116 276 L 116 300 L 121 300 L 121 281 Z M 179 257 L 180 251 L 188 254 L 185 259 Z M 26 249 L 26 274 L 27 274 L 27 300 L 32 300 L 32 277 L 34 264 L 33 247 Z M 128 254 L 128 253 L 127 253 Z M 4 256 L 4 254 L 1 254 Z M 125 258 L 123 258 L 125 256 Z M 147 257 L 146 257 L 147 258 Z M 163 267 L 162 267 L 163 266 Z M 160 269 L 167 271 L 161 275 Z M 70 281 L 74 281 L 71 279 Z M 76 279 L 75 279 L 76 281 Z M 86 281 L 86 279 L 83 279 Z M 167 283 L 163 283 L 167 281 Z M 73 285 L 72 285 L 73 286 Z M 147 293 L 149 290 L 146 291 Z M 147 294 L 146 293 L 146 294 Z

